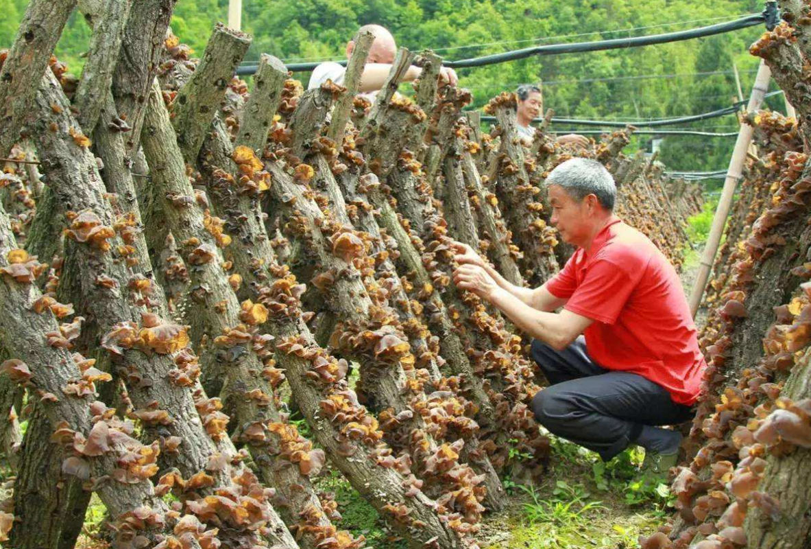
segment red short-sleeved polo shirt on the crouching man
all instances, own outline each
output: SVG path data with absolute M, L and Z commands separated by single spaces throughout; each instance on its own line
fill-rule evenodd
M 592 360 L 658 383 L 674 402 L 695 402 L 706 367 L 696 326 L 676 270 L 647 236 L 613 218 L 546 287 L 594 320 L 585 332 Z

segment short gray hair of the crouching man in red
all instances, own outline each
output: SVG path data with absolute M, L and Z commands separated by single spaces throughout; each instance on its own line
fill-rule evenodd
M 576 201 L 590 194 L 606 210 L 614 209 L 616 184 L 603 164 L 590 158 L 570 158 L 549 173 L 547 185 L 559 185 Z

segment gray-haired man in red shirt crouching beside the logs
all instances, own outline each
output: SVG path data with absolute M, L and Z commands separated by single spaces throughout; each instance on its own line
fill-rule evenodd
M 706 367 L 679 277 L 613 214 L 616 185 L 602 164 L 563 162 L 547 189 L 551 223 L 577 246 L 560 273 L 541 287 L 518 287 L 457 243 L 454 281 L 534 337 L 532 356 L 549 387 L 532 408 L 547 430 L 603 460 L 638 444 L 645 468 L 661 475 L 676 465 L 681 442 L 661 426 L 692 416 Z

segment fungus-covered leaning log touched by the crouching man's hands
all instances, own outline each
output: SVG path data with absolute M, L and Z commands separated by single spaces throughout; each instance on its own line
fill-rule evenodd
M 453 374 L 459 375 L 465 383 L 466 396 L 479 406 L 476 421 L 483 429 L 481 438 L 495 440 L 491 441 L 490 451 L 497 455 L 491 453 L 490 458 L 498 469 L 507 460 L 507 455 L 502 452 L 504 444 L 500 444 L 500 438 L 506 433 L 504 426 L 512 426 L 513 422 L 521 424 L 522 421 L 526 421 L 524 426 L 534 423 L 522 402 L 530 397 L 530 393 L 534 394 L 531 383 L 523 381 L 532 377 L 530 365 L 513 354 L 517 350 L 513 346 L 513 336 L 487 313 L 481 300 L 470 292 L 460 292 L 450 283 L 455 264 L 448 245 L 446 223 L 432 203 L 431 188 L 424 175 L 420 171 L 417 174 L 408 170 L 396 171 L 391 180 L 391 191 L 397 197 L 393 204 L 400 210 L 401 218 L 384 222 L 387 216 L 382 214 L 384 206 L 381 205 L 381 223 L 401 246 L 405 272 L 413 273 L 414 285 L 423 289 L 428 326 L 444 344 L 440 347 L 442 356 L 448 360 Z M 373 202 L 377 204 L 374 199 Z M 403 227 L 399 227 L 400 223 Z M 402 234 L 404 230 L 405 235 Z M 414 253 L 401 241 L 411 242 Z M 459 360 L 458 352 L 470 359 Z M 452 361 L 452 357 L 455 360 Z M 500 384 L 502 378 L 507 381 L 509 391 L 496 390 L 495 384 Z M 520 421 L 519 417 L 522 418 Z M 524 431 L 524 427 L 517 428 L 517 431 Z M 526 443 L 528 452 L 539 457 L 545 452 L 547 442 L 539 438 L 534 427 L 526 429 L 520 438 L 522 444 Z

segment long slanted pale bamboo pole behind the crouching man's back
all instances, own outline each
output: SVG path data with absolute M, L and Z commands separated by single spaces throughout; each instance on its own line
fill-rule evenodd
M 757 67 L 757 76 L 755 76 L 752 93 L 749 95 L 749 104 L 746 106 L 747 111 L 753 112 L 760 108 L 763 97 L 766 95 L 770 78 L 771 71 L 769 67 L 766 66 L 766 63 L 761 61 L 760 66 Z M 746 151 L 749 149 L 749 143 L 752 142 L 753 132 L 754 128 L 749 126 L 749 124 L 741 124 L 738 138 L 735 141 L 735 149 L 732 150 L 732 158 L 729 161 L 727 178 L 724 179 L 723 182 L 723 190 L 721 191 L 718 208 L 715 210 L 715 216 L 712 220 L 710 236 L 707 237 L 701 265 L 698 266 L 696 283 L 693 285 L 693 291 L 690 293 L 690 312 L 693 313 L 693 318 L 696 316 L 698 306 L 701 305 L 707 279 L 710 278 L 710 270 L 712 269 L 715 254 L 718 253 L 723 227 L 727 223 L 727 215 L 729 215 L 729 209 L 732 206 L 732 197 L 735 194 L 735 188 L 744 166 Z

